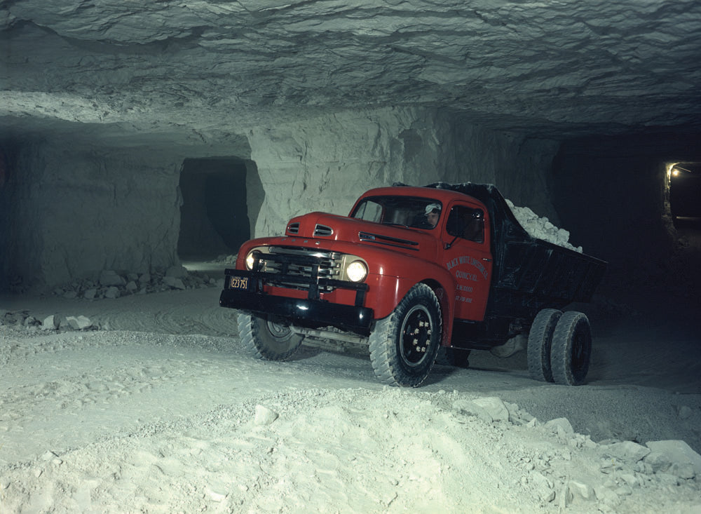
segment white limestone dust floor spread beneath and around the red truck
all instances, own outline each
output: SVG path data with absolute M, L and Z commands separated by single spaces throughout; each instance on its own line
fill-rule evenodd
M 474 351 L 426 386 L 367 355 L 252 358 L 217 290 L 0 299 L 5 512 L 692 513 L 701 395 L 691 307 L 592 311 L 585 386 Z M 43 330 L 79 306 L 88 330 Z M 647 312 L 647 311 L 646 311 Z M 658 316 L 658 318 L 654 318 Z M 112 327 L 106 330 L 105 327 Z M 626 356 L 626 358 L 620 358 Z M 469 487 L 467 487 L 469 486 Z

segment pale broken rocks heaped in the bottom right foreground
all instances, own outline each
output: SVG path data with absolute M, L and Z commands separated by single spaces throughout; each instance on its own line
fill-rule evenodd
M 545 503 L 557 503 L 561 510 L 573 502 L 585 502 L 592 508 L 596 504 L 601 512 L 613 513 L 628 496 L 644 489 L 699 489 L 701 455 L 682 440 L 648 441 L 645 445 L 620 440 L 597 443 L 576 433 L 566 418 L 543 424 L 518 405 L 496 397 L 456 400 L 452 410 L 491 426 L 525 426 L 559 441 L 550 452 L 524 452 L 512 464 L 522 470 L 520 485 Z M 578 462 L 578 452 L 598 459 L 597 468 L 587 469 Z

